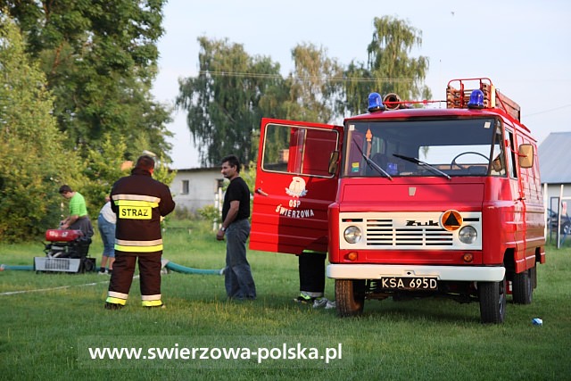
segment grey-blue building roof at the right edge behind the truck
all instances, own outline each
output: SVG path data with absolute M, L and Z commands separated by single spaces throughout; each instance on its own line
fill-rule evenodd
M 542 183 L 571 184 L 571 132 L 551 132 L 538 153 Z

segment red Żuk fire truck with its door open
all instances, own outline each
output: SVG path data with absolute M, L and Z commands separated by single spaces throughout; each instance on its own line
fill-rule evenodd
M 424 105 L 368 101 L 343 126 L 261 121 L 250 247 L 328 252 L 341 316 L 439 294 L 501 323 L 507 294 L 532 302 L 544 208 L 519 106 L 490 79 L 453 79 Z

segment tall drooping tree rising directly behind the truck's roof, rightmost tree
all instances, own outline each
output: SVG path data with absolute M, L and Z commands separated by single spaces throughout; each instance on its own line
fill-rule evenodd
M 346 109 L 363 112 L 372 91 L 381 95 L 396 93 L 403 101 L 430 98 L 430 90 L 424 85 L 428 58 L 409 56 L 413 47 L 422 44 L 421 32 L 392 16 L 376 17 L 373 24 L 367 64 L 352 62 L 345 70 Z

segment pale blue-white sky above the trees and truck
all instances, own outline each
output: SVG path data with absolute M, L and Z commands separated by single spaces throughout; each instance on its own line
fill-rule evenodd
M 228 38 L 247 54 L 269 56 L 286 76 L 292 49 L 302 43 L 324 47 L 343 65 L 367 62 L 373 20 L 385 15 L 420 32 L 422 44 L 409 55 L 429 59 L 425 83 L 434 99 L 445 99 L 451 79 L 485 77 L 521 106 L 540 144 L 550 133 L 571 131 L 568 0 L 169 0 L 153 95 L 173 105 L 178 79 L 198 74 L 198 37 Z M 186 112 L 173 113 L 168 128 L 172 168 L 198 168 Z

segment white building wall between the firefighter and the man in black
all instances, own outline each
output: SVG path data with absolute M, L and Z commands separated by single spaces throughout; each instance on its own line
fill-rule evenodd
M 188 193 L 184 193 L 185 180 L 188 181 Z M 194 212 L 206 205 L 214 205 L 223 180 L 219 168 L 177 170 L 177 176 L 170 184 L 177 209 Z

